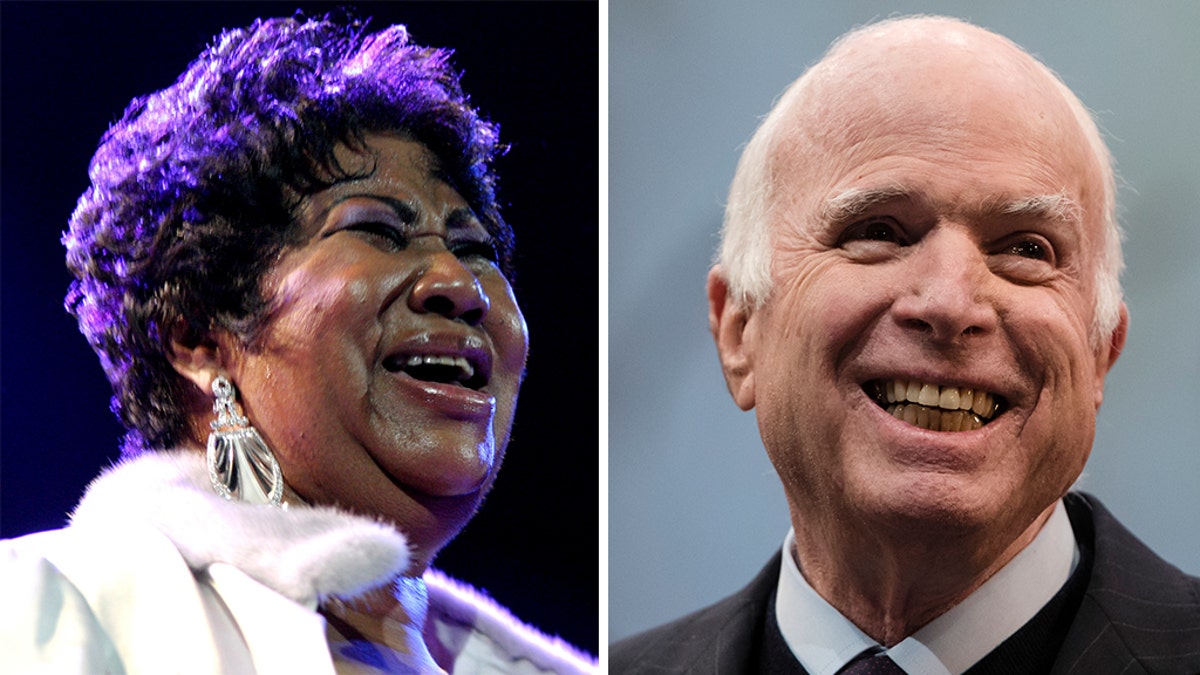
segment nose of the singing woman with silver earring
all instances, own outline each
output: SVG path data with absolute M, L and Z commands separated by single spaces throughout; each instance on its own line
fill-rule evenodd
M 408 304 L 415 312 L 438 313 L 468 325 L 482 323 L 491 309 L 475 274 L 445 249 L 428 253 Z

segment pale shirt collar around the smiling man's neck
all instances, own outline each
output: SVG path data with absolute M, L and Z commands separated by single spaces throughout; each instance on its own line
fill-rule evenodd
M 817 595 L 792 557 L 794 531 L 784 540 L 775 615 L 792 653 L 811 675 L 833 675 L 863 651 L 882 649 Z M 966 599 L 884 652 L 906 673 L 962 673 L 1050 602 L 1079 561 L 1074 532 L 1060 500 L 1030 545 Z

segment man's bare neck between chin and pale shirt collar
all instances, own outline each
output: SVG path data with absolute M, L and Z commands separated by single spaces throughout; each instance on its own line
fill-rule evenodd
M 892 646 L 962 602 L 1033 540 L 1054 504 L 1007 544 L 959 536 L 834 536 L 793 518 L 798 567 L 812 589 L 881 645 Z

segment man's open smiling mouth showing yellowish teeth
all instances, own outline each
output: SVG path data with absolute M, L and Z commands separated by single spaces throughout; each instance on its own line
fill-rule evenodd
M 892 417 L 930 431 L 973 431 L 1004 408 L 1004 399 L 989 392 L 917 380 L 874 380 L 864 389 Z

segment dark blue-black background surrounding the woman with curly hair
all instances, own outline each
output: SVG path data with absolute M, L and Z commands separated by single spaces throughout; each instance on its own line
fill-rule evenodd
M 0 5 L 0 534 L 59 527 L 118 456 L 110 389 L 62 310 L 59 237 L 96 144 L 223 28 L 300 2 Z M 598 646 L 598 25 L 592 2 L 359 4 L 452 47 L 463 86 L 512 145 L 500 198 L 517 233 L 529 372 L 504 471 L 437 566 L 517 616 Z

